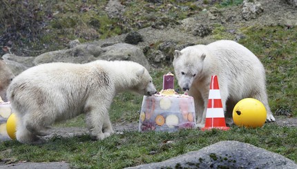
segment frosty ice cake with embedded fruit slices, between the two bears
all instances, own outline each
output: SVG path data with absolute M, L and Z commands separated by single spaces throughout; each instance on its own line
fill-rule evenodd
M 180 128 L 195 128 L 194 99 L 175 92 L 174 75 L 163 76 L 163 89 L 153 96 L 144 96 L 140 112 L 141 132 L 176 131 Z

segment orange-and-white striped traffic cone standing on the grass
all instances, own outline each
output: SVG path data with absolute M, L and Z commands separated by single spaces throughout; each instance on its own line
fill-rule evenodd
M 224 110 L 222 108 L 218 77 L 216 75 L 211 76 L 207 117 L 205 119 L 205 126 L 201 130 L 211 130 L 212 128 L 220 130 L 230 129 L 226 126 L 226 122 L 224 120 Z

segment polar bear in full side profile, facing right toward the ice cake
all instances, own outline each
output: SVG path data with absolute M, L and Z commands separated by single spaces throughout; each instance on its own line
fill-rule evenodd
M 50 126 L 84 113 L 91 139 L 113 133 L 108 116 L 113 97 L 124 90 L 157 92 L 148 70 L 133 61 L 45 63 L 21 72 L 8 87 L 17 115 L 17 140 L 42 143 Z

